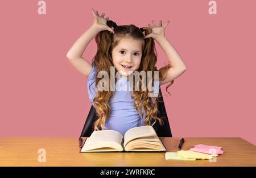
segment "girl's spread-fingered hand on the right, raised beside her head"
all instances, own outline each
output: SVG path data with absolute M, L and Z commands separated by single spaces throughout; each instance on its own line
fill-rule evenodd
M 144 36 L 144 39 L 146 38 L 153 38 L 155 40 L 158 40 L 162 37 L 164 37 L 164 28 L 166 28 L 167 24 L 170 22 L 170 20 L 167 21 L 164 26 L 162 26 L 162 20 L 159 22 L 159 26 L 156 26 L 155 20 L 152 20 L 152 26 L 151 24 L 148 24 L 148 27 L 151 28 L 152 32 L 146 36 Z

